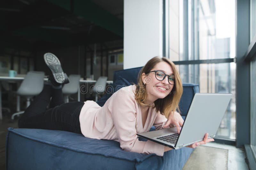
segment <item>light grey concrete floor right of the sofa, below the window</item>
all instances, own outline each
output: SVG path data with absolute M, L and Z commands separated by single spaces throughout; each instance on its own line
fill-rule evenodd
M 243 148 L 215 142 L 198 146 L 183 170 L 249 170 Z

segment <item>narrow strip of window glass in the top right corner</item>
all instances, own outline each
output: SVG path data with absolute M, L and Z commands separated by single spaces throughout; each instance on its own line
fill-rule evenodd
M 251 0 L 250 7 L 250 41 L 252 41 L 256 33 L 256 0 Z

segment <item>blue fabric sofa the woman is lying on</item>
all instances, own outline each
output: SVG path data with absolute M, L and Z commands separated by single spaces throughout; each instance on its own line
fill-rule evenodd
M 103 105 L 112 93 L 132 82 L 137 82 L 139 68 L 116 71 L 114 82 L 107 93 L 98 101 Z M 112 89 L 111 89 L 112 88 Z M 198 85 L 183 84 L 180 101 L 182 117 L 185 117 Z M 43 129 L 9 128 L 6 137 L 6 169 L 182 169 L 193 152 L 181 148 L 156 154 L 123 151 L 120 144 L 112 140 L 85 138 L 81 134 L 67 131 Z M 140 138 L 140 140 L 145 140 Z

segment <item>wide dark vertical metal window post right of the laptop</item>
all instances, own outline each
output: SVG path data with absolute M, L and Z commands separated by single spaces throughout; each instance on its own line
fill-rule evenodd
M 250 140 L 250 65 L 244 53 L 250 42 L 250 0 L 236 0 L 236 147 L 244 147 Z

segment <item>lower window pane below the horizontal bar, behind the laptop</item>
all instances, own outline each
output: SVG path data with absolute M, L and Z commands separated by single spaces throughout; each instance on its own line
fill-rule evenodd
M 236 139 L 236 64 L 179 65 L 178 69 L 183 82 L 199 84 L 200 93 L 233 94 L 216 136 Z

